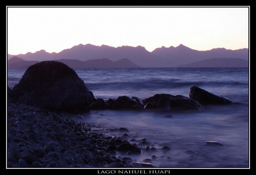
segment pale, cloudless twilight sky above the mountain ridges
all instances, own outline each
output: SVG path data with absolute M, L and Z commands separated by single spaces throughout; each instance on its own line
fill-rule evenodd
M 248 7 L 7 7 L 7 53 L 78 44 L 248 48 Z

